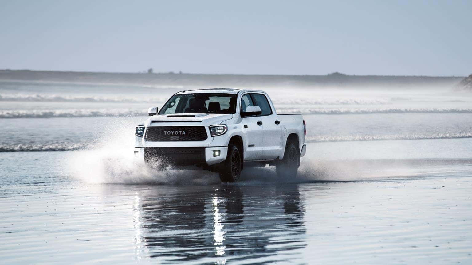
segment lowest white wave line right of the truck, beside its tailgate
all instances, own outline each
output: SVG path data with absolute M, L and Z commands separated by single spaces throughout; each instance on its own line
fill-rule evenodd
M 394 141 L 394 140 L 426 140 L 426 139 L 458 139 L 472 138 L 472 132 L 409 134 L 409 135 L 345 135 L 345 136 L 309 136 L 306 142 L 339 142 L 339 141 Z

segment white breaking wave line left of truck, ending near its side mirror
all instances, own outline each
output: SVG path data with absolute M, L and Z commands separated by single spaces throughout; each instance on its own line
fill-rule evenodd
M 109 117 L 143 116 L 146 109 L 35 109 L 0 110 L 0 118 L 57 118 L 57 117 Z

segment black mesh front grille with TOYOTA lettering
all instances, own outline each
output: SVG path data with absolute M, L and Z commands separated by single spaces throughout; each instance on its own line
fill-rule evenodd
M 150 126 L 146 130 L 146 141 L 205 141 L 208 138 L 205 126 Z

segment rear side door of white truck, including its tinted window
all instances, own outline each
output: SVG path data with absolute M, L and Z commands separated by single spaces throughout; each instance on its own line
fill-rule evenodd
M 262 156 L 261 159 L 275 159 L 280 154 L 281 139 L 282 139 L 282 125 L 277 119 L 275 109 L 270 108 L 267 96 L 260 93 L 251 94 L 256 106 L 261 108 L 261 116 L 264 135 L 262 137 Z

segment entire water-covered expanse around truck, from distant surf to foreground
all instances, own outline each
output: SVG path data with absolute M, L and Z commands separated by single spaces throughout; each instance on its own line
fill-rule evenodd
M 0 82 L 0 263 L 472 263 L 472 94 L 258 88 L 303 113 L 307 155 L 221 184 L 133 158 L 191 88 Z

